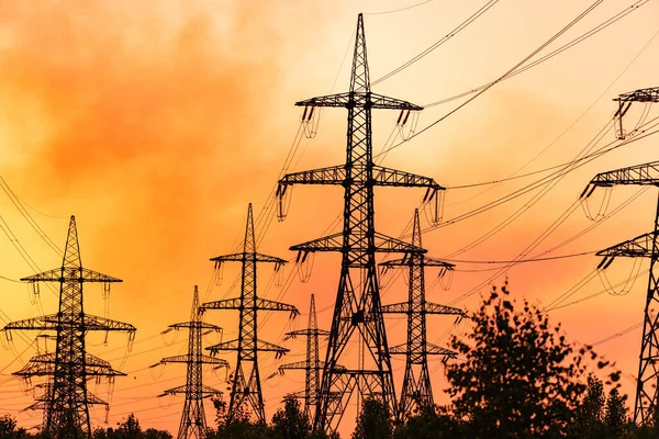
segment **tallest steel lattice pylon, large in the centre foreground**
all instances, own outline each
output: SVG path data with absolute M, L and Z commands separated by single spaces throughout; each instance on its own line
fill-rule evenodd
M 312 98 L 297 102 L 305 108 L 334 106 L 348 111 L 346 162 L 344 165 L 294 172 L 279 180 L 281 200 L 292 184 L 337 184 L 344 188 L 343 232 L 291 247 L 302 261 L 309 252 L 342 254 L 340 278 L 327 346 L 321 397 L 314 427 L 335 431 L 355 391 L 361 396 L 381 398 L 398 414 L 391 358 L 387 344 L 377 280 L 376 252 L 422 251 L 416 247 L 376 232 L 373 188 L 427 188 L 426 200 L 443 190 L 435 180 L 378 166 L 373 162 L 371 110 L 420 111 L 418 105 L 388 98 L 370 90 L 364 19 L 357 20 L 357 35 L 346 93 Z M 357 361 L 348 361 L 346 347 L 356 342 Z M 339 368 L 342 364 L 344 368 Z

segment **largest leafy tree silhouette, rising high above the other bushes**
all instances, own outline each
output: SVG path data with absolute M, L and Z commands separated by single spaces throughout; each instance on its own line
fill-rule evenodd
M 561 437 L 587 389 L 584 357 L 596 354 L 590 347 L 576 351 L 560 325 L 509 296 L 507 282 L 493 288 L 471 315 L 467 340 L 451 339 L 466 359 L 447 368 L 453 412 L 470 438 Z

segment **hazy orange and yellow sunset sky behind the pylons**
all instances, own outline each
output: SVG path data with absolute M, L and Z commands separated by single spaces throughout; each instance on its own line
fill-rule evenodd
M 536 2 L 501 0 L 467 29 L 420 61 L 373 87 L 373 91 L 428 104 L 488 83 L 506 72 L 592 4 L 592 0 Z M 233 252 L 245 227 L 247 204 L 263 238 L 259 251 L 294 260 L 291 245 L 326 234 L 340 213 L 338 187 L 299 187 L 284 222 L 271 218 L 270 193 L 282 171 L 339 165 L 345 160 L 346 111 L 327 109 L 317 121 L 317 135 L 299 132 L 302 109 L 295 101 L 348 88 L 350 52 L 357 13 L 365 13 L 371 80 L 376 80 L 447 35 L 487 3 L 433 0 L 380 1 L 56 1 L 0 2 L 0 176 L 34 221 L 58 246 L 66 239 L 68 217 L 76 215 L 85 267 L 119 277 L 110 295 L 110 317 L 137 327 L 132 353 L 125 357 L 124 335 L 88 337 L 88 351 L 126 372 L 118 378 L 110 425 L 134 412 L 144 427 L 176 432 L 182 396 L 157 398 L 185 383 L 185 365 L 148 369 L 161 357 L 182 353 L 186 334 L 171 346 L 159 333 L 189 318 L 193 285 L 202 300 L 236 296 L 231 288 L 237 266 L 227 266 L 216 284 L 209 258 Z M 637 9 L 629 9 L 638 5 Z M 390 13 L 381 13 L 395 11 Z M 618 93 L 656 87 L 659 61 L 659 1 L 603 1 L 529 63 L 549 54 L 612 16 L 619 21 L 546 63 L 502 81 L 449 117 L 391 150 L 382 165 L 435 178 L 449 188 L 444 219 L 487 205 L 546 176 L 533 175 L 495 185 L 456 187 L 505 179 L 572 160 L 583 148 L 615 142 L 613 131 L 591 139 L 611 121 Z M 433 105 L 420 116 L 417 131 L 439 120 L 467 98 Z M 659 108 L 635 104 L 624 121 L 627 131 L 657 116 Z M 398 134 L 396 112 L 373 112 L 373 148 Z M 391 140 L 389 140 L 391 142 Z M 398 140 L 396 140 L 398 142 Z M 659 159 L 657 137 L 619 147 L 568 173 L 539 200 L 541 189 L 498 207 L 427 232 L 428 255 L 459 261 L 511 260 L 571 209 L 597 172 Z M 295 147 L 297 145 L 297 147 Z M 294 156 L 284 169 L 287 156 Z M 455 189 L 451 189 L 455 188 Z M 639 188 L 615 188 L 608 212 L 627 202 Z M 9 191 L 9 190 L 8 190 Z M 391 236 L 403 234 L 424 190 L 377 189 L 376 225 Z M 590 209 L 597 211 L 605 194 L 595 191 Z M 578 239 L 544 257 L 595 251 L 649 232 L 657 190 L 649 188 L 615 215 Z M 533 201 L 533 202 L 532 202 Z M 521 215 L 478 246 L 515 212 Z M 30 226 L 9 196 L 0 191 L 0 228 L 9 229 L 40 269 L 62 263 Z M 577 236 L 594 223 L 580 206 L 537 247 L 535 257 Z M 422 214 L 422 226 L 427 227 Z M 338 230 L 335 228 L 335 230 Z M 0 234 L 0 323 L 54 313 L 57 297 L 46 288 L 33 304 L 31 290 L 12 280 L 33 273 L 7 234 Z M 14 240 L 13 244 L 16 244 Z M 466 251 L 465 248 L 469 247 Z M 263 356 L 265 380 L 284 362 L 301 361 L 304 340 L 283 341 L 287 330 L 306 325 L 310 293 L 315 293 L 319 324 L 328 328 L 339 274 L 338 255 L 314 260 L 311 279 L 302 283 L 291 262 L 290 288 L 277 288 L 271 268 L 259 269 L 260 295 L 295 305 L 302 315 L 260 315 L 260 338 L 286 346 L 281 360 Z M 492 264 L 456 262 L 450 289 L 429 289 L 429 301 L 466 309 L 479 293 L 507 277 L 515 296 L 546 306 L 592 278 L 563 304 L 601 292 L 593 270 L 594 255 L 527 262 L 506 273 Z M 644 260 L 640 272 L 649 262 Z M 637 267 L 638 268 L 638 267 Z M 485 270 L 485 271 L 483 271 Z M 489 270 L 489 271 L 487 271 Z M 429 270 L 428 270 L 429 271 Z M 611 283 L 629 278 L 634 261 L 618 259 L 606 271 Z M 7 278 L 7 279 L 5 279 Z M 402 279 L 382 279 L 382 302 L 404 301 Z M 479 286 L 479 285 L 483 286 Z M 268 286 L 269 285 L 269 286 Z M 626 295 L 604 292 L 551 311 L 574 342 L 602 340 L 641 322 L 647 275 Z M 85 290 L 86 311 L 102 315 L 101 289 Z M 467 293 L 470 293 L 466 296 Z M 237 312 L 209 312 L 208 322 L 235 337 Z M 428 340 L 446 346 L 450 334 L 465 327 L 453 319 L 428 318 Z M 387 317 L 390 345 L 405 340 L 404 319 Z M 641 329 L 596 346 L 595 351 L 624 372 L 624 391 L 635 389 Z M 32 341 L 35 334 L 26 333 Z M 169 334 L 168 336 L 170 336 Z M 4 337 L 0 335 L 0 337 Z M 40 413 L 22 413 L 32 392 L 11 376 L 36 353 L 18 334 L 0 354 L 0 415 L 16 416 L 20 425 L 41 423 Z M 217 337 L 206 344 L 217 342 Z M 325 345 L 322 344 L 324 351 Z M 42 345 L 43 348 L 43 345 Z M 48 347 L 49 349 L 53 346 Z M 16 358 L 18 357 L 18 358 Z M 125 357 L 125 361 L 124 360 Z M 322 354 L 324 357 L 324 354 Z M 232 364 L 235 356 L 226 354 Z M 394 358 L 400 389 L 404 358 Z M 435 397 L 447 403 L 438 360 L 431 360 Z M 159 380 L 152 375 L 161 374 Z M 204 375 L 205 383 L 226 389 L 224 372 Z M 303 389 L 303 372 L 287 372 L 264 381 L 269 417 L 289 392 Z M 101 385 L 92 392 L 109 398 Z M 633 397 L 629 404 L 633 406 Z M 206 406 L 210 424 L 214 410 Z M 101 426 L 102 407 L 92 410 Z M 351 423 L 348 419 L 347 423 Z

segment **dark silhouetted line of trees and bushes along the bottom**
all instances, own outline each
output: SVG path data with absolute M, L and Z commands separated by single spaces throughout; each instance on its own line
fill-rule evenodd
M 511 299 L 507 285 L 493 289 L 470 316 L 471 328 L 453 337 L 458 359 L 446 365 L 451 403 L 425 407 L 394 420 L 378 399 L 366 399 L 351 439 L 659 439 L 659 412 L 635 426 L 621 372 L 590 346 L 567 341 L 537 306 Z M 225 404 L 215 401 L 215 427 L 206 439 L 337 439 L 313 431 L 298 401 L 284 399 L 270 424 L 247 413 L 226 423 Z M 29 438 L 15 420 L 0 418 L 0 438 Z M 43 437 L 43 436 L 42 436 Z M 133 416 L 114 429 L 97 429 L 98 439 L 171 438 L 143 431 Z

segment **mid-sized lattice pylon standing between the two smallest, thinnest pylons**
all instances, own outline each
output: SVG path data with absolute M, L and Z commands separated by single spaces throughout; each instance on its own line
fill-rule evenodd
M 212 354 L 216 354 L 220 351 L 237 351 L 236 369 L 233 376 L 228 402 L 227 423 L 231 423 L 234 419 L 235 415 L 245 404 L 252 409 L 257 421 L 266 423 L 264 396 L 258 372 L 258 352 L 275 352 L 277 357 L 280 357 L 286 354 L 289 350 L 258 338 L 257 312 L 288 311 L 292 316 L 298 315 L 299 312 L 298 308 L 292 305 L 269 301 L 259 297 L 257 294 L 257 262 L 273 263 L 275 271 L 278 271 L 286 263 L 286 260 L 256 252 L 252 204 L 249 204 L 247 210 L 247 226 L 245 228 L 245 239 L 243 243 L 242 252 L 219 256 L 211 259 L 215 262 L 215 269 L 220 269 L 222 262 L 242 263 L 241 296 L 204 303 L 201 305 L 200 309 L 201 312 L 205 312 L 206 309 L 238 309 L 241 312 L 238 338 L 211 346 L 206 349 L 209 349 Z

